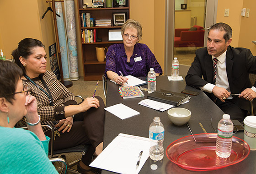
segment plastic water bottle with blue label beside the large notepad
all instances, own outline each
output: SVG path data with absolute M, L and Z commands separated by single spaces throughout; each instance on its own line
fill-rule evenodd
M 149 157 L 154 161 L 160 161 L 164 158 L 164 135 L 164 125 L 160 122 L 159 117 L 155 117 L 154 122 L 149 126 Z

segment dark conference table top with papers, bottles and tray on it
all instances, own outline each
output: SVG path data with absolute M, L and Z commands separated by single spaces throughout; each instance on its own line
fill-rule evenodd
M 139 77 L 146 81 L 146 77 Z M 184 78 L 184 76 L 183 76 Z M 207 121 L 211 120 L 217 122 L 222 118 L 224 114 L 221 109 L 210 99 L 204 92 L 186 85 L 185 81 L 169 81 L 167 76 L 157 77 L 156 89 L 168 90 L 172 92 L 181 92 L 183 89 L 199 92 L 197 96 L 190 96 L 190 102 L 181 104 L 178 107 L 184 107 L 191 111 L 192 115 L 190 121 Z M 148 92 L 143 91 L 144 97 L 123 99 L 118 92 L 119 85 L 107 82 L 107 100 L 106 107 L 123 103 L 124 105 L 133 108 L 140 114 L 127 119 L 120 119 L 106 111 L 105 113 L 105 128 L 104 128 L 104 143 L 103 148 L 106 148 L 109 143 L 119 134 L 126 133 L 130 135 L 136 135 L 141 137 L 149 137 L 149 125 L 153 122 L 154 117 L 160 117 L 161 122 L 165 128 L 164 149 L 175 140 L 191 135 L 187 125 L 176 126 L 168 118 L 167 111 L 160 112 L 154 109 L 144 107 L 138 104 L 139 101 L 146 99 Z M 147 85 L 142 87 L 147 88 Z M 243 132 L 238 132 L 234 136 L 243 139 Z M 158 169 L 150 169 L 151 164 L 157 164 Z M 175 163 L 171 162 L 166 154 L 161 161 L 154 162 L 150 158 L 140 170 L 139 174 L 256 174 L 256 152 L 251 151 L 249 156 L 238 164 L 234 164 L 223 169 L 195 172 L 180 168 Z M 102 170 L 102 174 L 111 174 L 113 172 Z

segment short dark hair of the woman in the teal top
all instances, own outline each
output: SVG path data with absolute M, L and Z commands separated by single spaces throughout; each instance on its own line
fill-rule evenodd
M 22 70 L 11 61 L 0 60 L 0 97 L 12 103 L 14 95 L 10 95 L 16 91 L 17 82 L 21 79 Z

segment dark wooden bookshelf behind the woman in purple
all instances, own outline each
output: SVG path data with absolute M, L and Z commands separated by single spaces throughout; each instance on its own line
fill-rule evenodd
M 82 59 L 84 62 L 83 72 L 84 72 L 84 80 L 85 81 L 96 81 L 102 80 L 102 74 L 105 71 L 106 61 L 99 62 L 96 58 L 96 47 L 109 47 L 116 43 L 123 43 L 123 41 L 108 41 L 108 31 L 110 29 L 121 29 L 122 26 L 114 26 L 113 25 L 113 13 L 126 13 L 126 18 L 130 18 L 130 8 L 129 8 L 129 0 L 128 7 L 122 8 L 106 8 L 106 3 L 104 7 L 101 8 L 86 8 L 83 9 L 83 0 L 78 0 L 78 14 L 79 14 L 79 26 L 81 29 L 94 30 L 96 29 L 96 33 L 98 38 L 102 38 L 101 42 L 92 42 L 92 43 L 84 43 L 81 39 L 81 51 L 82 51 Z M 111 19 L 112 26 L 94 26 L 94 27 L 82 27 L 81 25 L 81 13 L 90 13 L 91 18 L 95 18 L 95 20 L 99 19 Z M 126 20 L 127 20 L 126 19 Z M 81 37 L 81 34 L 80 34 Z

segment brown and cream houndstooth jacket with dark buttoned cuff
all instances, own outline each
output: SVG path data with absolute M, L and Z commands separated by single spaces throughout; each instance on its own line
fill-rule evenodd
M 28 80 L 22 80 L 23 85 L 28 85 L 30 95 L 37 98 L 37 112 L 41 116 L 41 124 L 49 124 L 54 126 L 53 121 L 64 119 L 64 107 L 68 105 L 76 105 L 75 96 L 64 85 L 59 82 L 53 72 L 46 71 L 43 74 L 43 80 L 49 88 L 53 97 L 53 105 L 47 95 L 38 87 Z M 33 78 L 32 81 L 47 92 L 39 77 Z M 58 122 L 57 122 L 58 123 Z M 17 123 L 18 126 L 26 126 L 25 116 Z M 46 129 L 44 129 L 45 131 Z

